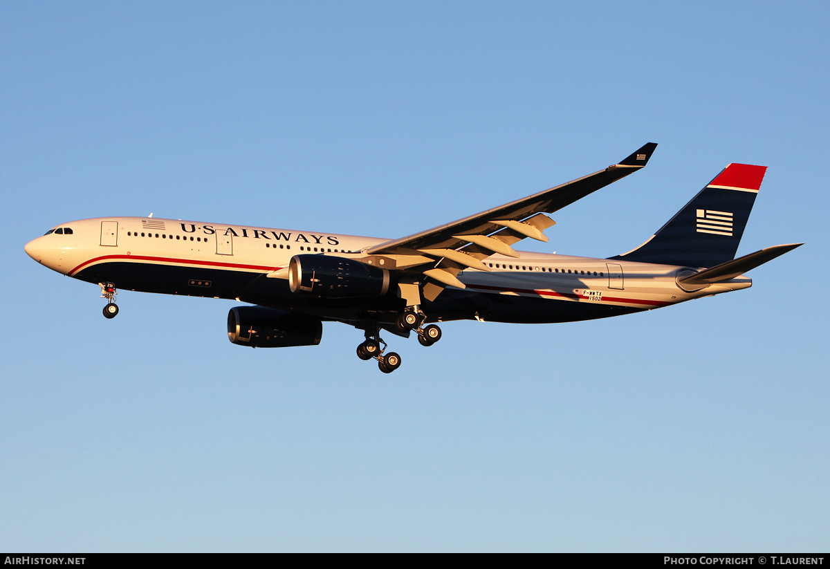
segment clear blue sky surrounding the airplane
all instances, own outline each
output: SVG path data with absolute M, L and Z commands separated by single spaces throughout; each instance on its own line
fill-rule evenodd
M 4 551 L 827 551 L 824 2 L 5 2 Z M 769 166 L 751 289 L 316 348 L 33 262 L 147 215 L 398 237 L 657 142 L 533 250 L 645 241 Z M 522 243 L 525 246 L 525 242 Z

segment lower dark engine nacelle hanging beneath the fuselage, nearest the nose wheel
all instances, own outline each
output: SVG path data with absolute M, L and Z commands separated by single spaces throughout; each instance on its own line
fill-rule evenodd
M 316 346 L 323 323 L 302 314 L 260 306 L 239 306 L 227 313 L 227 337 L 238 346 L 290 348 Z

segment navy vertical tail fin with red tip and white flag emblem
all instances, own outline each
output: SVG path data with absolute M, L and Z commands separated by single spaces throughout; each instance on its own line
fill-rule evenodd
M 766 170 L 730 164 L 651 239 L 612 259 L 695 267 L 733 260 Z

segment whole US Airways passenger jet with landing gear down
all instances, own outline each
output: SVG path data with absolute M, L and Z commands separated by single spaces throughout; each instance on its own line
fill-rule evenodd
M 382 372 L 401 365 L 381 330 L 423 346 L 436 323 L 477 319 L 560 323 L 662 308 L 746 289 L 745 272 L 802 243 L 735 259 L 764 166 L 732 163 L 642 246 L 594 259 L 518 251 L 548 241 L 547 213 L 643 168 L 656 143 L 622 162 L 529 197 L 399 239 L 152 217 L 61 223 L 30 241 L 28 255 L 100 286 L 106 318 L 118 289 L 236 299 L 228 338 L 251 348 L 320 343 L 324 321 L 364 333 L 357 348 Z

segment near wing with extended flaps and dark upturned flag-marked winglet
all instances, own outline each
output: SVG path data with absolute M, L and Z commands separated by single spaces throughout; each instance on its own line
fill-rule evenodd
M 464 288 L 456 278 L 461 270 L 467 267 L 489 270 L 482 259 L 494 253 L 518 257 L 510 247 L 515 242 L 525 237 L 548 241 L 542 231 L 555 222 L 545 213 L 556 212 L 636 172 L 648 163 L 655 148 L 656 143 L 647 143 L 622 162 L 599 172 L 447 225 L 380 243 L 370 247 L 365 254 L 395 255 L 402 261 L 408 259 L 399 262 L 398 268 L 416 270 L 434 281 L 430 290 L 424 290 L 427 298 L 434 299 L 445 285 Z

